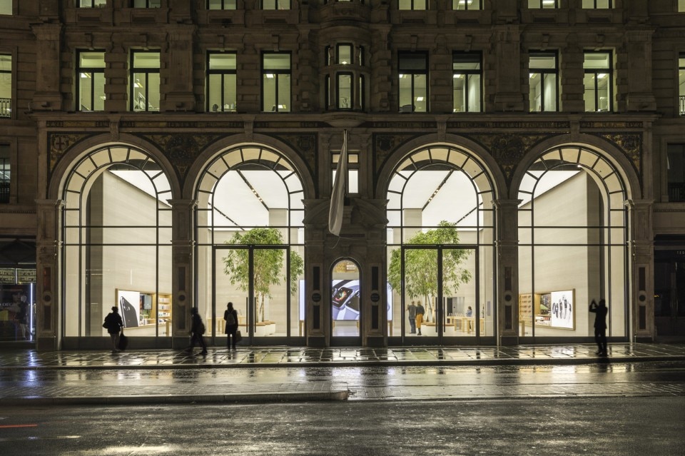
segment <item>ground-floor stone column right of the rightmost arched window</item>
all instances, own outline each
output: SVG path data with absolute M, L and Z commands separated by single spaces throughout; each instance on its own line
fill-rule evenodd
M 633 331 L 636 342 L 654 341 L 654 231 L 651 223 L 651 200 L 630 200 Z M 629 315 L 626 315 L 626 318 Z M 631 334 L 626 334 L 631 337 Z

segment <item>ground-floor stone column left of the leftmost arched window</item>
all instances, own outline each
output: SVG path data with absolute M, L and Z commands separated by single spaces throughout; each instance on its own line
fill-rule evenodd
M 59 350 L 61 200 L 36 200 L 36 349 Z

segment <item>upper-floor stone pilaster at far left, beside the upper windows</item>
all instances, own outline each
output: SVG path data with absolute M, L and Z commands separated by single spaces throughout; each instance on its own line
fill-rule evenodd
M 59 50 L 61 24 L 33 24 L 36 35 L 36 90 L 31 99 L 32 111 L 61 111 L 62 95 L 59 91 Z

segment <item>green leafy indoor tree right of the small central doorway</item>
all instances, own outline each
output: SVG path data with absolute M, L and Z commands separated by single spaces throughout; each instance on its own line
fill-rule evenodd
M 417 233 L 405 245 L 454 245 L 459 243 L 457 224 L 441 221 L 438 228 Z M 462 248 L 442 250 L 442 294 L 452 295 L 462 283 L 469 283 L 471 273 L 462 268 L 471 250 Z M 387 280 L 397 293 L 402 290 L 402 250 L 392 250 Z M 410 298 L 422 298 L 427 321 L 433 313 L 433 298 L 437 296 L 437 250 L 405 249 L 405 293 Z

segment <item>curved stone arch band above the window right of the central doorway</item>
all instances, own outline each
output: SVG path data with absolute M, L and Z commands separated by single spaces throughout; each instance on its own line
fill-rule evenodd
M 452 134 L 445 135 L 445 138 L 439 141 L 437 133 L 433 133 L 430 135 L 414 138 L 411 141 L 407 141 L 407 143 L 402 144 L 402 146 L 392 152 L 385 163 L 382 164 L 382 169 L 378 174 L 376 195 L 385 196 L 385 193 L 387 192 L 387 185 L 390 182 L 390 177 L 402 160 L 414 152 L 433 146 L 461 148 L 469 152 L 471 156 L 475 158 L 478 163 L 480 163 L 480 166 L 483 167 L 483 170 L 487 173 L 492 181 L 492 192 L 494 198 L 500 198 L 500 195 L 507 194 L 506 179 L 504 179 L 504 174 L 497 165 L 497 161 L 495 161 L 492 155 L 486 149 L 480 146 L 480 144 L 475 143 L 474 141 L 463 136 Z

